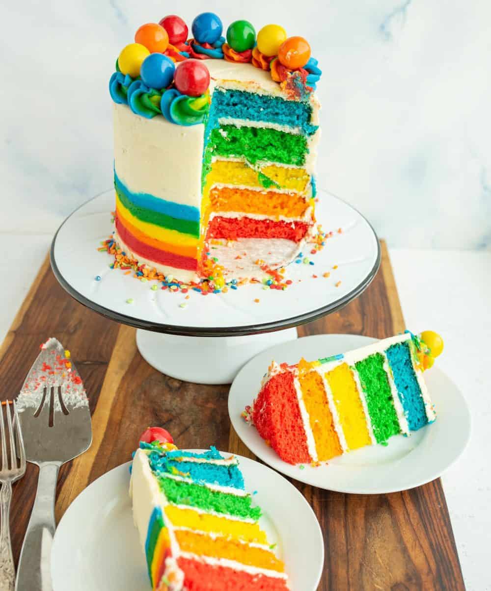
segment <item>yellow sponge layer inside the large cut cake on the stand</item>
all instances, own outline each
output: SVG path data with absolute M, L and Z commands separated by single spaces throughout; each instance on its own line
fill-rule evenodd
M 310 176 L 303 168 L 268 164 L 261 167 L 260 172 L 279 184 L 280 189 L 303 193 L 310 182 Z M 259 170 L 255 170 L 243 162 L 228 160 L 216 160 L 212 163 L 211 171 L 206 176 L 206 184 L 212 186 L 215 183 L 265 188 L 260 183 Z

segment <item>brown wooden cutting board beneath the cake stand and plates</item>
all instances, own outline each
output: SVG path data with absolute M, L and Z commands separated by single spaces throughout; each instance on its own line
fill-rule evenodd
M 299 336 L 331 332 L 382 338 L 402 332 L 404 320 L 384 243 L 382 253 L 382 268 L 370 287 L 343 310 L 299 327 Z M 89 483 L 130 459 L 149 425 L 167 428 L 182 448 L 215 445 L 254 457 L 230 426 L 228 386 L 181 382 L 151 368 L 138 353 L 135 329 L 73 300 L 54 278 L 48 258 L 0 348 L 2 399 L 18 394 L 40 343 L 50 336 L 72 352 L 89 395 L 93 428 L 88 452 L 60 471 L 57 519 Z M 345 495 L 293 483 L 314 508 L 324 534 L 318 591 L 464 589 L 440 479 L 390 495 Z M 36 484 L 37 468 L 28 465 L 25 477 L 14 485 L 15 561 Z

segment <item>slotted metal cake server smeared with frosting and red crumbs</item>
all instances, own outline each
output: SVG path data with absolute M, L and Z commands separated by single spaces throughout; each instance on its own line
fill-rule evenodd
M 33 511 L 17 567 L 16 591 L 51 590 L 54 499 L 60 466 L 92 443 L 89 402 L 69 352 L 56 339 L 41 352 L 17 397 L 25 457 L 39 466 Z

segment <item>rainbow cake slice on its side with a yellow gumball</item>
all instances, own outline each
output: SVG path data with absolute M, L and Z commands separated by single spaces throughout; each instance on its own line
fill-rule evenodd
M 273 362 L 244 418 L 290 464 L 386 444 L 435 420 L 422 372 L 442 348 L 432 331 L 406 332 L 314 362 Z

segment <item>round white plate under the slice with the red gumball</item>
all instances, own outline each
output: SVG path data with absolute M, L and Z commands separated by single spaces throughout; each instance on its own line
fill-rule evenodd
M 264 513 L 260 525 L 270 543 L 277 544 L 290 588 L 315 591 L 324 541 L 314 511 L 288 480 L 259 462 L 238 458 L 248 492 L 257 490 L 254 503 Z M 118 466 L 92 482 L 63 515 L 51 552 L 53 591 L 150 590 L 128 496 L 129 466 Z

